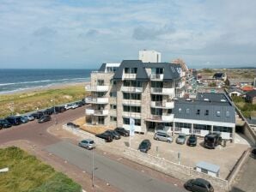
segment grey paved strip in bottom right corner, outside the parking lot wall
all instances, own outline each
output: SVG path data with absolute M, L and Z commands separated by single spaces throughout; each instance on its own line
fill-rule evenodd
M 256 159 L 249 157 L 239 173 L 239 180 L 235 183 L 232 192 L 256 191 Z

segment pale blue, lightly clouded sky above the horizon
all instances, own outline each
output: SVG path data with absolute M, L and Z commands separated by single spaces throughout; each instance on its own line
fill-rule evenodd
M 96 69 L 139 50 L 256 67 L 254 0 L 0 0 L 0 69 Z

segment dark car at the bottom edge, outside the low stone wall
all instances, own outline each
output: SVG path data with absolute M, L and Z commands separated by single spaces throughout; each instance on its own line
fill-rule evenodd
M 184 184 L 184 187 L 192 192 L 214 192 L 210 182 L 203 178 L 190 179 Z

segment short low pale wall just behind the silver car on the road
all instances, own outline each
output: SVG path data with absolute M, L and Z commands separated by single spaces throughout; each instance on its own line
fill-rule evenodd
M 99 137 L 95 137 L 95 135 L 90 134 L 84 130 L 81 130 L 79 128 L 72 128 L 70 126 L 67 126 L 66 124 L 63 125 L 63 129 L 71 132 L 74 135 L 80 136 L 82 139 L 92 139 L 94 140 L 94 142 L 96 143 L 96 145 L 102 145 L 105 143 L 105 140 L 99 138 Z

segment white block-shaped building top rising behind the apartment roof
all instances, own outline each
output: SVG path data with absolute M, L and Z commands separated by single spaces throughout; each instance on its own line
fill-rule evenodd
M 138 58 L 143 63 L 161 63 L 161 53 L 154 50 L 139 51 Z

